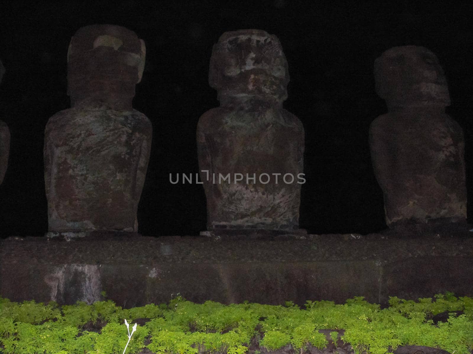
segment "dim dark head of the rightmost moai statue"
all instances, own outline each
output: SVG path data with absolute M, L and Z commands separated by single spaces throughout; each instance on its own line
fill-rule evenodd
M 385 51 L 375 61 L 377 94 L 388 108 L 450 104 L 447 79 L 434 53 L 408 45 Z

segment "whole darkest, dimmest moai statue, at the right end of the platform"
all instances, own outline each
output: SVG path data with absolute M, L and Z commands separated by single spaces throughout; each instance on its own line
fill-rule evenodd
M 387 225 L 466 221 L 463 132 L 445 114 L 450 97 L 437 57 L 394 47 L 376 59 L 374 73 L 389 110 L 369 131 Z

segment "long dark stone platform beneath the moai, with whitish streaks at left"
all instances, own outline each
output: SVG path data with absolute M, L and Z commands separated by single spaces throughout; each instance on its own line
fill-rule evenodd
M 0 295 L 125 308 L 180 293 L 203 303 L 284 304 L 353 296 L 473 296 L 473 233 L 254 235 L 246 239 L 96 234 L 0 240 Z

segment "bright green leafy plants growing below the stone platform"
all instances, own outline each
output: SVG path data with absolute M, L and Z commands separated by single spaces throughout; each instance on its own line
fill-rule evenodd
M 344 329 L 340 339 L 350 343 L 356 354 L 385 354 L 388 346 L 432 346 L 450 353 L 469 354 L 473 350 L 473 298 L 452 293 L 436 295 L 435 300 L 418 302 L 391 297 L 390 306 L 381 310 L 363 297 L 345 304 L 307 301 L 305 309 L 292 302 L 285 306 L 241 303 L 223 305 L 212 301 L 196 304 L 182 296 L 168 304 L 148 304 L 122 309 L 112 301 L 92 305 L 78 302 L 10 302 L 0 298 L 0 353 L 10 354 L 112 354 L 139 353 L 143 348 L 157 354 L 245 354 L 256 337 L 263 351 L 290 346 L 296 354 L 307 346 L 324 348 L 337 342 L 319 329 Z M 463 311 L 447 322 L 434 325 L 432 316 Z M 124 319 L 150 319 L 134 326 L 128 338 Z M 88 330 L 96 324 L 99 332 Z M 124 352 L 123 352 L 124 353 Z M 263 352 L 264 353 L 264 352 Z

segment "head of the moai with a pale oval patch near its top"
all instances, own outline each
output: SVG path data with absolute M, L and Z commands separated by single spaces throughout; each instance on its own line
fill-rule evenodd
M 131 107 L 143 74 L 143 40 L 121 26 L 88 25 L 72 37 L 67 53 L 68 94 L 84 100 L 125 101 Z

